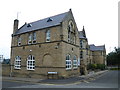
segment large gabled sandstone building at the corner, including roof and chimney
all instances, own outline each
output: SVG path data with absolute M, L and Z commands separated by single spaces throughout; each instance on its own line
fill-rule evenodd
M 80 75 L 79 33 L 71 9 L 18 28 L 14 20 L 11 75 L 67 78 Z M 55 75 L 54 75 L 55 74 Z

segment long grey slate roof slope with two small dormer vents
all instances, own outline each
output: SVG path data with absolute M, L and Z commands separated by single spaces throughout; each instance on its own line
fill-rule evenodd
M 52 16 L 52 17 L 41 19 L 41 20 L 31 22 L 31 23 L 28 23 L 28 24 L 25 23 L 22 27 L 20 27 L 17 30 L 15 35 L 30 32 L 30 31 L 34 31 L 34 30 L 38 30 L 38 29 L 43 29 L 43 28 L 47 28 L 47 27 L 51 27 L 51 26 L 60 25 L 61 22 L 63 21 L 64 17 L 67 15 L 67 13 L 68 12 L 65 12 L 65 13 L 62 13 L 62 14 L 58 14 L 58 15 L 55 15 L 55 16 Z

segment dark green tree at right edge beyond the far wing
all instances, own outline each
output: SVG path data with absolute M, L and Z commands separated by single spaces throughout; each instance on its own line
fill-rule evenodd
M 120 48 L 115 48 L 114 52 L 107 55 L 107 65 L 120 65 Z

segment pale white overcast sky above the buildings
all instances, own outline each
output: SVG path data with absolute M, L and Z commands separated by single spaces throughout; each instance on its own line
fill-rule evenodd
M 119 0 L 0 0 L 0 55 L 10 58 L 13 21 L 19 27 L 72 9 L 78 30 L 84 25 L 89 44 L 118 47 Z M 18 13 L 18 17 L 17 17 Z

